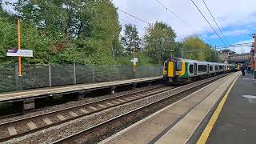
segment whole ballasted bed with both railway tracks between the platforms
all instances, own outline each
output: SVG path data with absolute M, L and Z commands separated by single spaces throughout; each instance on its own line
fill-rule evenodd
M 192 92 L 199 90 L 211 82 L 225 77 L 226 75 L 227 74 L 218 75 L 213 78 L 207 78 L 202 81 L 176 88 L 173 86 L 158 86 L 151 89 L 139 90 L 130 94 L 119 95 L 114 98 L 106 98 L 97 102 L 90 102 L 80 106 L 55 110 L 46 114 L 39 114 L 29 118 L 5 122 L 0 124 L 0 142 L 13 138 L 21 138 L 24 135 L 34 134 L 39 131 L 44 131 L 42 134 L 45 134 L 46 136 L 38 134 L 34 137 L 31 136 L 33 138 L 23 138 L 21 140 L 14 140 L 14 142 L 45 142 L 46 138 L 48 138 L 47 143 L 100 142 L 119 130 L 130 126 L 134 122 L 138 122 L 142 118 L 146 118 L 146 116 L 153 114 L 155 111 L 161 110 L 173 102 L 177 102 L 179 99 L 186 97 Z M 131 106 L 132 104 L 135 104 L 137 107 Z M 129 107 L 130 110 L 122 110 L 124 109 L 122 106 Z M 113 114 L 112 116 L 112 113 L 115 113 L 114 110 L 114 112 L 107 112 L 107 110 L 112 109 L 119 111 L 120 114 Z M 99 113 L 105 113 L 105 116 L 94 115 Z M 45 132 L 45 129 L 47 128 L 74 122 L 77 119 L 86 118 L 86 116 L 91 116 L 91 118 L 88 118 L 89 121 L 87 120 L 86 122 L 94 120 L 97 122 L 91 122 L 93 124 L 86 127 L 82 126 L 84 125 L 82 121 L 80 123 L 75 123 L 74 126 L 67 124 L 70 128 L 65 128 L 65 126 L 63 126 L 62 130 L 53 130 L 56 134 Z M 78 128 L 75 126 L 78 126 Z M 64 131 L 68 131 L 68 134 L 61 134 L 59 131 L 62 133 L 64 133 Z M 12 140 L 9 142 L 12 142 Z

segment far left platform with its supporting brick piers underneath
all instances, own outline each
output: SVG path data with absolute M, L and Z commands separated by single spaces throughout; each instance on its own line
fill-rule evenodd
M 161 77 L 152 78 L 134 78 L 129 80 L 115 81 L 115 82 L 97 82 L 91 84 L 72 85 L 72 86 L 56 86 L 34 90 L 21 90 L 10 93 L 0 94 L 0 104 L 6 102 L 22 102 L 23 113 L 33 111 L 35 108 L 35 98 L 50 98 L 54 95 L 73 94 L 78 100 L 84 98 L 84 93 L 88 90 L 98 90 L 110 88 L 115 90 L 118 86 L 136 86 L 143 82 L 154 82 L 161 80 Z

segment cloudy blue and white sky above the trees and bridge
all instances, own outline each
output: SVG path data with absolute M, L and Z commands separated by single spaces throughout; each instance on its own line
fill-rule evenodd
M 118 9 L 125 10 L 129 14 L 133 14 L 146 22 L 154 23 L 160 21 L 168 23 L 178 35 L 178 40 L 182 40 L 190 34 L 197 34 L 211 46 L 224 45 L 214 33 L 214 30 L 222 37 L 223 41 L 225 41 L 225 38 L 218 30 L 202 0 L 194 0 L 194 2 L 202 10 L 202 14 L 205 15 L 206 19 L 214 27 L 214 30 L 210 28 L 190 0 L 158 1 L 162 2 L 162 4 L 173 11 L 174 14 L 177 14 L 186 23 L 175 17 L 174 14 L 171 14 L 157 0 L 113 0 L 114 5 Z M 256 33 L 255 0 L 205 0 L 205 2 L 230 44 L 254 41 L 251 34 Z M 140 35 L 145 34 L 146 23 L 140 22 L 122 12 L 118 12 L 118 14 L 122 26 L 127 23 L 135 24 L 138 27 Z M 241 53 L 242 50 L 243 52 L 250 52 L 250 48 L 246 46 L 235 48 L 237 53 Z

